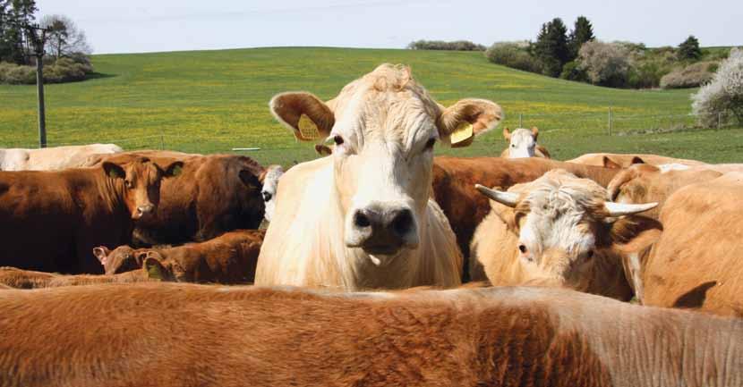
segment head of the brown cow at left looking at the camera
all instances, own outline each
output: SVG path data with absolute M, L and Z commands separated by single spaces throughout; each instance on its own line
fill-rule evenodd
M 104 162 L 102 167 L 117 191 L 123 193 L 121 199 L 136 220 L 155 213 L 160 201 L 160 181 L 179 174 L 183 165 L 176 161 L 163 169 L 149 158 L 140 157 L 126 164 Z

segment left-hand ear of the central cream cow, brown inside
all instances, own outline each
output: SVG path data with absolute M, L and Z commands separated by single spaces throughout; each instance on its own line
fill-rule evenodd
M 312 141 L 324 139 L 336 123 L 336 117 L 329 106 L 306 92 L 278 94 L 269 102 L 271 114 L 287 128 L 296 139 Z

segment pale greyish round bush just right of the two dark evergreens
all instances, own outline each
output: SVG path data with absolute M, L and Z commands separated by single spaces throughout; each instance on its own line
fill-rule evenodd
M 579 68 L 594 85 L 620 88 L 627 85 L 630 68 L 627 48 L 613 43 L 586 42 L 578 51 Z

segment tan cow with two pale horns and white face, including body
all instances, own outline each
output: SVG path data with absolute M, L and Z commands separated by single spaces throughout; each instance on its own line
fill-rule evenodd
M 493 285 L 536 281 L 632 298 L 622 255 L 646 248 L 659 225 L 619 217 L 647 211 L 657 203 L 607 201 L 602 186 L 559 169 L 508 191 L 480 185 L 478 190 L 493 203 L 491 214 L 474 233 L 470 251 L 472 262 L 483 265 Z

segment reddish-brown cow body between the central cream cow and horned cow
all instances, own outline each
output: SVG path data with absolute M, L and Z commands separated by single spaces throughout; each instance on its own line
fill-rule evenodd
M 491 210 L 490 201 L 474 189 L 474 184 L 508 189 L 510 186 L 562 168 L 578 177 L 606 186 L 618 170 L 581 164 L 568 164 L 539 157 L 507 159 L 501 157 L 438 156 L 433 160 L 433 197 L 447 215 L 457 235 L 457 245 L 468 267 L 474 229 Z M 468 273 L 465 270 L 463 280 Z

